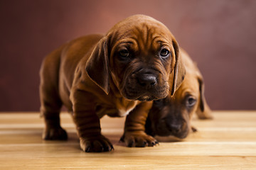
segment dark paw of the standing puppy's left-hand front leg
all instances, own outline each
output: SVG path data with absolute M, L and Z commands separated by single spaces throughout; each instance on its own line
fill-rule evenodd
M 102 135 L 80 137 L 80 147 L 84 152 L 110 152 L 114 149 L 110 140 Z

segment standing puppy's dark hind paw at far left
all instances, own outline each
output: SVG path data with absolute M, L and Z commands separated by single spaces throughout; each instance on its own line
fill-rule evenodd
M 46 128 L 43 131 L 43 140 L 68 140 L 68 135 L 63 128 Z

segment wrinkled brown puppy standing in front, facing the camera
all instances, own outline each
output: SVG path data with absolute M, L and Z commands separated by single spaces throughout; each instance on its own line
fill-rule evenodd
M 66 140 L 60 108 L 73 113 L 85 152 L 113 149 L 101 134 L 100 118 L 127 115 L 124 141 L 129 147 L 156 145 L 144 125 L 152 100 L 174 94 L 183 72 L 178 45 L 164 24 L 149 16 L 131 16 L 106 35 L 70 41 L 46 57 L 41 67 L 44 140 Z M 170 76 L 171 74 L 171 76 Z M 170 87 L 171 86 L 171 87 Z

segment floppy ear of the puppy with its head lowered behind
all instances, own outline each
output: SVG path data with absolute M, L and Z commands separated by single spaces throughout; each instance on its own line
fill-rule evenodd
M 199 91 L 200 91 L 200 98 L 199 98 L 199 105 L 198 109 L 196 111 L 196 114 L 198 115 L 199 119 L 212 119 L 213 116 L 210 114 L 210 108 L 208 104 L 206 103 L 206 98 L 204 96 L 204 84 L 203 84 L 203 78 L 198 78 L 199 83 Z

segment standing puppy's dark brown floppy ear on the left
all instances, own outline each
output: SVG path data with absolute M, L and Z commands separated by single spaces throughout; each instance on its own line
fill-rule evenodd
M 100 86 L 106 94 L 110 92 L 110 69 L 107 49 L 107 38 L 104 37 L 95 46 L 85 66 L 90 79 L 97 86 Z

